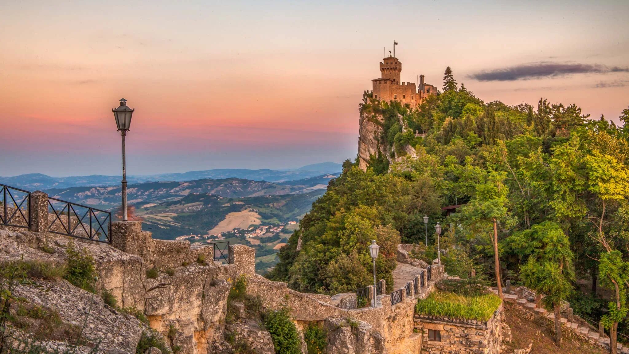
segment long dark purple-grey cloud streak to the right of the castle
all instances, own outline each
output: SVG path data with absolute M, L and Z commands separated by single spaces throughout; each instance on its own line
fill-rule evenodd
M 503 69 L 481 71 L 471 74 L 469 77 L 478 81 L 516 81 L 572 74 L 604 74 L 608 72 L 629 72 L 629 67 L 610 67 L 603 64 L 533 62 Z

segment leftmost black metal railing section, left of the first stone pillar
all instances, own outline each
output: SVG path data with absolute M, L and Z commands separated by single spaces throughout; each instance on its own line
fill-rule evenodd
M 0 184 L 0 224 L 14 227 L 31 226 L 31 192 Z

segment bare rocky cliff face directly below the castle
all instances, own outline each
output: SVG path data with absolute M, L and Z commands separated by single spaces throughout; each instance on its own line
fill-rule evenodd
M 406 128 L 403 117 L 398 117 L 402 127 Z M 359 167 L 366 171 L 372 156 L 382 156 L 389 161 L 399 161 L 401 156 L 382 138 L 384 132 L 384 118 L 381 115 L 371 113 L 361 113 L 359 118 L 359 138 L 358 157 Z M 406 156 L 416 157 L 415 149 L 412 146 L 404 145 L 403 151 Z

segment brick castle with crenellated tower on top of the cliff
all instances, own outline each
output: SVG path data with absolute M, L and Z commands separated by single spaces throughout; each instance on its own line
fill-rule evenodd
M 399 101 L 408 103 L 415 108 L 430 94 L 437 94 L 437 88 L 424 83 L 424 76 L 420 75 L 420 86 L 415 83 L 400 83 L 399 76 L 402 63 L 398 58 L 389 55 L 380 63 L 381 77 L 373 79 L 374 98 L 384 101 Z

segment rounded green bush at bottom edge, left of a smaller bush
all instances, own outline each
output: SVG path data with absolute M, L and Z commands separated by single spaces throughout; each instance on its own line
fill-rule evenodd
M 288 309 L 264 312 L 264 326 L 271 334 L 276 353 L 301 354 L 301 341 Z

